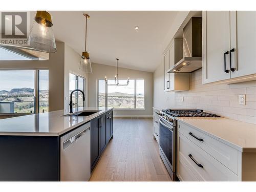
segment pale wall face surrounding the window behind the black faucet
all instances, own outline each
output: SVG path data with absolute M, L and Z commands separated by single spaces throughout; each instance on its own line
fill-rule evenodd
M 65 75 L 64 75 L 64 93 L 65 102 L 64 109 L 66 112 L 69 111 L 69 73 L 79 75 L 86 79 L 86 106 L 88 106 L 88 87 L 89 87 L 89 74 L 86 74 L 79 70 L 81 55 L 75 52 L 71 47 L 65 44 Z

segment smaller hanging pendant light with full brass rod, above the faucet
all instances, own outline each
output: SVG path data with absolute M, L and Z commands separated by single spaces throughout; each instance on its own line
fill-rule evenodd
M 84 13 L 83 16 L 86 17 L 86 31 L 85 31 L 85 33 L 86 33 L 85 34 L 85 44 L 86 44 L 86 40 L 87 40 L 87 19 L 90 18 L 90 16 L 86 13 Z M 86 73 L 92 73 L 91 60 L 90 60 L 89 53 L 86 51 L 86 48 L 85 48 L 84 52 L 82 52 L 79 70 L 82 70 Z

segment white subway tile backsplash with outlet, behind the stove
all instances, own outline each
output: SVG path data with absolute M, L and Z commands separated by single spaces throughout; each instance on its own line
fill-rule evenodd
M 189 91 L 174 93 L 177 107 L 203 109 L 222 117 L 256 124 L 256 81 L 236 84 L 202 84 L 202 70 L 190 74 Z M 246 95 L 239 105 L 238 95 Z

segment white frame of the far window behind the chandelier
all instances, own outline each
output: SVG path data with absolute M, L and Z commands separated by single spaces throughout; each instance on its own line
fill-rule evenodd
M 105 81 L 105 79 L 97 79 L 97 94 L 96 94 L 96 99 L 97 99 L 97 107 L 99 107 L 99 80 L 103 80 Z M 114 79 L 109 79 L 109 80 L 114 80 Z M 119 80 L 127 80 L 127 79 L 119 79 Z M 136 110 L 136 111 L 139 111 L 139 110 L 142 110 L 142 111 L 145 111 L 146 110 L 146 95 L 145 95 L 145 92 L 146 92 L 146 87 L 145 87 L 145 78 L 130 78 L 130 80 L 134 80 L 134 108 L 133 109 L 130 109 L 130 108 L 114 108 L 114 110 Z M 144 81 L 144 108 L 140 108 L 140 109 L 137 109 L 136 108 L 136 99 L 137 99 L 137 80 L 143 80 Z M 105 83 L 105 107 L 108 108 L 108 85 Z

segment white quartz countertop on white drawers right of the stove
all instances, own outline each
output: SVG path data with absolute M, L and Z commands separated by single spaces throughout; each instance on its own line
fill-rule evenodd
M 222 117 L 176 119 L 243 153 L 256 153 L 256 124 Z

